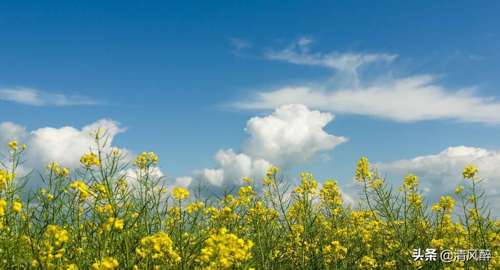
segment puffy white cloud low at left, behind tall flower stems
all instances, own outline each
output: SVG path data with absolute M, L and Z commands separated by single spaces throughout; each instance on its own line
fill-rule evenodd
M 119 126 L 118 122 L 109 119 L 98 120 L 80 130 L 66 126 L 44 127 L 29 132 L 21 125 L 3 122 L 0 123 L 0 149 L 5 152 L 7 143 L 14 140 L 19 144 L 27 145 L 24 152 L 27 161 L 18 167 L 21 173 L 28 173 L 33 169 L 42 170 L 46 164 L 52 162 L 72 169 L 79 167 L 79 159 L 84 153 L 90 152 L 89 147 L 95 148 L 94 140 L 89 133 L 99 128 L 107 130 L 107 145 L 104 151 L 112 149 L 111 143 L 114 136 L 125 130 Z M 131 156 L 128 150 L 121 149 L 121 151 Z

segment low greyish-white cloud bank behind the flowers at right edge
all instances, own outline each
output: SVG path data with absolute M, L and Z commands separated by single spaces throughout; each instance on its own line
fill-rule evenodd
M 500 214 L 500 150 L 457 146 L 448 147 L 436 155 L 396 160 L 388 163 L 375 163 L 374 168 L 387 172 L 387 179 L 400 186 L 406 174 L 413 174 L 421 182 L 429 205 L 439 202 L 440 196 L 455 196 L 454 190 L 465 186 L 470 180 L 463 179 L 462 172 L 467 165 L 479 169 L 476 177 L 484 180 L 477 186 L 485 189 L 487 202 L 491 203 L 492 213 Z M 470 183 L 468 183 L 470 184 Z M 455 196 L 456 198 L 456 196 Z

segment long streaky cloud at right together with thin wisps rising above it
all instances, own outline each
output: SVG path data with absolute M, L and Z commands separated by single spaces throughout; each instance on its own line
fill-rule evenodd
M 244 101 L 228 105 L 236 109 L 273 109 L 299 103 L 310 109 L 333 113 L 359 114 L 397 122 L 451 119 L 459 122 L 500 124 L 500 103 L 478 94 L 476 87 L 450 90 L 436 83 L 433 74 L 392 78 L 380 75 L 359 82 L 360 66 L 374 62 L 391 63 L 395 54 L 310 53 L 311 38 L 280 51 L 269 51 L 270 60 L 299 65 L 323 66 L 335 70 L 334 79 L 312 81 L 306 86 L 283 86 L 271 91 L 252 91 Z M 298 48 L 297 48 L 298 47 Z M 338 85 L 341 81 L 342 86 Z M 312 85 L 312 86 L 311 86 Z

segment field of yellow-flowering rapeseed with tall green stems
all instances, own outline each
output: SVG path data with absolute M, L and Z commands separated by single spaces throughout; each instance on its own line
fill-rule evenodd
M 467 184 L 428 208 L 416 176 L 392 188 L 360 158 L 362 196 L 347 206 L 336 181 L 318 189 L 301 173 L 288 185 L 275 167 L 219 193 L 166 187 L 154 177 L 153 152 L 135 157 L 127 175 L 119 150 L 103 152 L 105 132 L 90 136 L 95 147 L 82 153 L 81 167 L 46 165 L 36 175 L 43 188 L 26 187 L 34 174 L 17 174 L 29 146 L 9 143 L 0 167 L 0 268 L 500 269 L 500 221 L 490 220 L 472 165 Z

